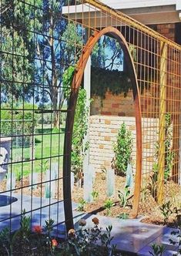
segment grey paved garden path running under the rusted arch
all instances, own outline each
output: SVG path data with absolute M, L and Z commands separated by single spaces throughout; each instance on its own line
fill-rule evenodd
M 55 224 L 59 223 L 58 228 L 55 228 L 55 235 L 65 237 L 63 202 L 25 195 L 23 195 L 23 198 L 20 198 L 21 195 L 19 194 L 12 194 L 12 196 L 18 200 L 7 206 L 0 207 L 0 230 L 9 225 L 10 212 L 12 230 L 18 229 L 22 208 L 27 212 L 33 210 L 29 212 L 32 215 L 32 226 L 36 224 L 43 226 L 45 220 L 51 217 L 55 220 Z M 23 202 L 22 207 L 19 205 L 21 200 Z M 49 204 L 52 205 L 49 207 Z M 39 208 L 40 206 L 42 206 L 42 209 Z M 114 237 L 112 244 L 117 244 L 116 248 L 120 251 L 126 251 L 127 255 L 150 256 L 149 251 L 152 251 L 150 248 L 152 244 L 163 244 L 166 246 L 166 252 L 163 256 L 173 256 L 176 253 L 176 245 L 171 245 L 169 242 L 170 238 L 175 239 L 171 235 L 173 228 L 142 223 L 140 222 L 141 218 L 121 220 L 116 217 L 85 214 L 75 211 L 76 207 L 77 204 L 72 203 L 75 227 L 78 227 L 78 221 L 82 217 L 86 219 L 87 227 L 92 227 L 92 217 L 99 217 L 99 225 L 103 231 L 106 230 L 108 225 L 112 225 L 112 236 Z M 57 211 L 59 211 L 58 219 Z

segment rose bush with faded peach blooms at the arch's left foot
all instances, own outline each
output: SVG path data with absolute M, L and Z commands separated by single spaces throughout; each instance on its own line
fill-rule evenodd
M 116 246 L 111 244 L 112 226 L 106 227 L 106 231 L 102 232 L 102 228 L 99 227 L 99 219 L 94 217 L 92 222 L 94 224 L 92 228 L 85 228 L 86 221 L 80 220 L 78 231 L 69 230 L 68 242 L 60 245 L 62 251 L 60 255 L 121 255 L 116 253 Z

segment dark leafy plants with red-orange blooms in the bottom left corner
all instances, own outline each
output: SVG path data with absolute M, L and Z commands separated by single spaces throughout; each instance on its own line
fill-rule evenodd
M 53 224 L 50 219 L 44 228 L 35 225 L 31 229 L 31 219 L 22 211 L 18 231 L 11 233 L 6 227 L 0 232 L 0 255 L 59 255 L 58 241 L 51 234 Z

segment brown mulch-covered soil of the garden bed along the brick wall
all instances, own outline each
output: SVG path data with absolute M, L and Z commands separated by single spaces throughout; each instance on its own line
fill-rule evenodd
M 39 183 L 41 180 L 44 180 L 45 175 L 39 173 Z M 113 201 L 113 206 L 111 207 L 110 216 L 112 217 L 120 217 L 122 214 L 130 216 L 132 210 L 132 195 L 133 191 L 129 195 L 129 200 L 127 202 L 126 207 L 120 207 L 119 204 L 119 196 L 118 190 L 123 192 L 125 186 L 125 177 L 116 176 L 116 189 L 115 195 L 111 198 Z M 21 188 L 23 185 L 23 188 Z M 28 177 L 23 177 L 22 180 L 16 181 L 16 190 L 15 193 L 23 193 L 26 195 L 33 195 L 35 197 L 44 197 L 45 196 L 45 186 L 41 186 L 38 184 L 35 189 L 31 189 L 29 186 Z M 57 191 L 59 194 L 55 193 L 55 198 L 58 200 L 62 200 L 62 180 L 56 182 L 56 187 L 58 186 Z M 18 189 L 19 188 L 19 189 Z M 6 180 L 3 180 L 0 184 L 0 191 L 6 190 Z M 106 174 L 105 173 L 96 173 L 95 184 L 93 186 L 93 190 L 98 192 L 98 197 L 89 204 L 85 204 L 84 211 L 92 214 L 106 215 L 107 211 L 104 208 L 106 197 Z M 164 185 L 165 198 L 166 201 L 170 201 L 173 204 L 173 207 L 181 205 L 181 187 L 178 184 L 175 184 L 173 181 L 167 181 Z M 140 200 L 139 203 L 139 217 L 142 217 L 142 222 L 150 223 L 150 224 L 163 224 L 163 214 L 159 209 L 159 205 L 154 200 L 152 194 L 147 188 L 142 194 L 144 199 Z M 83 188 L 79 188 L 78 186 L 74 186 L 72 190 L 72 200 L 76 203 L 79 203 L 83 198 Z M 170 215 L 170 214 L 169 214 Z M 176 214 L 171 214 L 169 216 L 169 225 L 176 224 Z

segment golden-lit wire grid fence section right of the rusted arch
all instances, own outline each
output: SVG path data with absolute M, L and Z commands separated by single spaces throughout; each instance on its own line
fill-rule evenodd
M 180 45 L 99 1 L 78 2 L 63 13 L 69 22 L 86 29 L 88 38 L 112 26 L 126 39 L 139 84 L 142 190 L 151 190 L 163 204 L 168 200 L 165 184 L 180 183 Z

